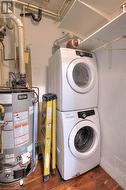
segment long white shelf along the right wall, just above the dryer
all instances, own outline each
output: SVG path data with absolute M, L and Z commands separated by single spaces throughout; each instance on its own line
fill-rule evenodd
M 95 51 L 123 36 L 126 36 L 126 12 L 121 13 L 95 33 L 85 38 L 79 44 L 78 49 Z

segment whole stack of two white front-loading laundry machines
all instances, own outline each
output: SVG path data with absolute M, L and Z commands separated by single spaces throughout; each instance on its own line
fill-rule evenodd
M 64 180 L 100 163 L 98 71 L 93 54 L 60 48 L 50 58 L 48 92 L 57 94 L 57 167 Z

